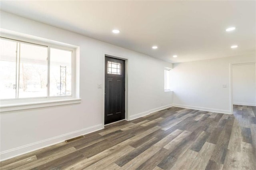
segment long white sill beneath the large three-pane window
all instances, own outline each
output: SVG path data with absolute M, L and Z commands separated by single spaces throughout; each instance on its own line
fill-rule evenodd
M 0 105 L 0 112 L 8 112 L 8 111 L 18 111 L 24 109 L 34 109 L 40 107 L 51 107 L 51 106 L 59 106 L 59 105 L 70 105 L 75 103 L 81 103 L 81 99 L 55 99 L 48 101 L 37 101 L 37 102 L 29 102 L 29 103 L 14 103 L 14 104 L 6 104 Z

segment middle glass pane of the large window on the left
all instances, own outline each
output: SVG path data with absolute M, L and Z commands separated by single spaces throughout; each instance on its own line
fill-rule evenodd
M 18 98 L 47 96 L 47 47 L 19 43 Z

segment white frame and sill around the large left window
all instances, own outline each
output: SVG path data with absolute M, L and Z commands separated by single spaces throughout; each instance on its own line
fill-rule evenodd
M 27 43 L 30 45 L 37 45 L 37 46 L 43 46 L 47 47 L 47 93 L 46 97 L 27 97 L 27 98 L 14 98 L 14 99 L 0 99 L 0 112 L 6 112 L 6 111 L 15 111 L 15 110 L 23 110 L 23 109 L 31 109 L 31 108 L 38 108 L 38 107 L 48 107 L 48 106 L 55 106 L 55 105 L 63 105 L 62 102 L 65 104 L 72 104 L 72 103 L 81 103 L 81 99 L 79 98 L 79 85 L 76 85 L 79 80 L 76 80 L 79 78 L 76 76 L 76 50 L 77 46 L 70 45 L 70 44 L 64 44 L 61 42 L 56 42 L 52 40 L 47 40 L 40 38 L 40 40 L 34 40 L 34 39 L 27 39 L 23 37 L 17 37 L 13 35 L 5 35 L 2 34 L 0 36 L 0 39 L 13 41 L 17 43 Z M 42 41 L 41 41 L 42 39 Z M 49 43 L 50 42 L 50 43 Z M 54 42 L 54 43 L 52 43 Z M 61 45 L 59 45 L 61 44 Z M 54 49 L 61 49 L 66 51 L 71 51 L 71 95 L 60 95 L 60 96 L 50 96 L 50 48 Z M 16 57 L 18 57 L 16 55 Z M 18 61 L 16 60 L 16 63 Z M 19 63 L 18 63 L 19 64 Z M 78 66 L 79 67 L 79 66 Z M 16 71 L 17 74 L 17 71 Z M 18 75 L 16 75 L 18 76 Z M 18 92 L 17 92 L 18 93 Z M 17 97 L 17 95 L 16 95 Z M 48 104 L 47 104 L 48 103 Z

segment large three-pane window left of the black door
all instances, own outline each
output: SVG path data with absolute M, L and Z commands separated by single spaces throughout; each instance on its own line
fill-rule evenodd
M 72 50 L 0 39 L 0 99 L 72 96 Z

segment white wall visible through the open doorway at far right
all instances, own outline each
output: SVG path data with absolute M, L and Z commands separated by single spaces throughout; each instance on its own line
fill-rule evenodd
M 233 104 L 256 106 L 255 63 L 233 65 Z

